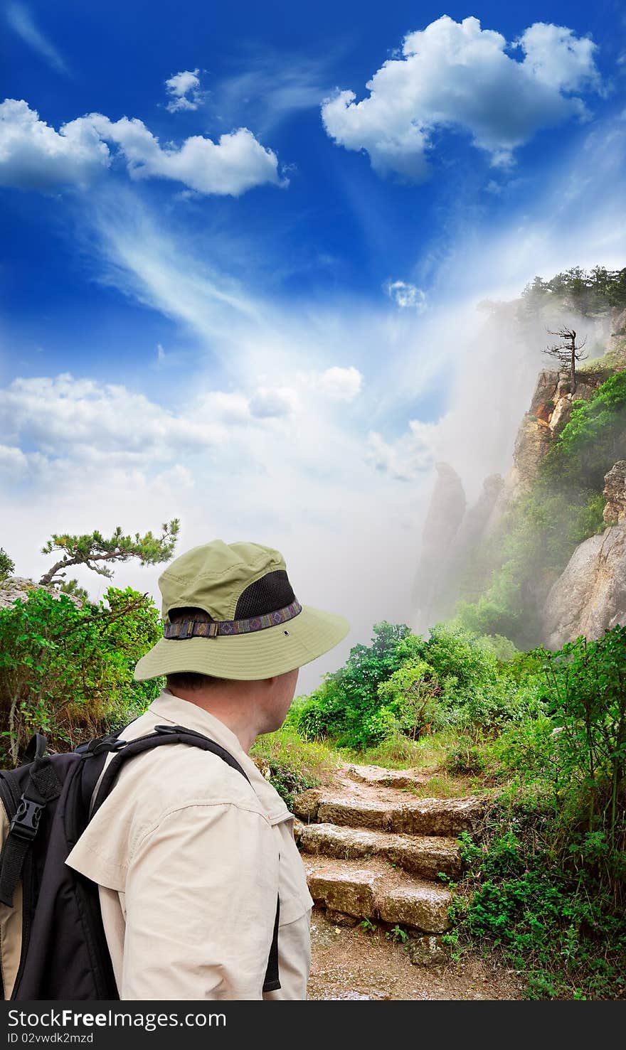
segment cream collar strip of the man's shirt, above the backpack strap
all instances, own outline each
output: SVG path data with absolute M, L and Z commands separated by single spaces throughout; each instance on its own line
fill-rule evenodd
M 229 751 L 248 776 L 268 817 L 275 821 L 279 817 L 288 816 L 289 810 L 276 790 L 265 779 L 250 755 L 246 754 L 232 730 L 215 715 L 200 708 L 197 704 L 174 696 L 168 689 L 164 689 L 147 710 L 155 718 L 155 724 L 171 722 L 172 726 L 184 726 L 186 729 L 209 736 L 215 743 Z

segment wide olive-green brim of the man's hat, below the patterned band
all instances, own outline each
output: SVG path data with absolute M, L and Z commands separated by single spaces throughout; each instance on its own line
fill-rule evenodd
M 345 616 L 304 605 L 277 627 L 212 638 L 161 638 L 139 660 L 134 680 L 193 671 L 217 678 L 253 681 L 285 674 L 333 649 L 350 630 Z

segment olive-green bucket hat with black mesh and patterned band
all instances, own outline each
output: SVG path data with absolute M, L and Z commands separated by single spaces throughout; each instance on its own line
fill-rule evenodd
M 137 681 L 176 671 L 251 681 L 285 674 L 346 637 L 343 616 L 300 605 L 278 550 L 211 543 L 176 558 L 159 578 L 163 638 L 139 660 Z M 174 610 L 202 609 L 170 620 Z

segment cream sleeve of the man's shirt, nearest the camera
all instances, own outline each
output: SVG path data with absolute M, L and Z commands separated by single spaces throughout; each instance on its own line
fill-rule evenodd
M 122 1000 L 260 1000 L 278 856 L 266 818 L 233 803 L 167 813 L 126 876 Z

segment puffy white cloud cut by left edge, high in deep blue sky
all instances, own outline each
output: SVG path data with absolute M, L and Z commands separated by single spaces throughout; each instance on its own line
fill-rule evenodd
M 1 186 L 84 188 L 109 164 L 108 147 L 89 124 L 72 121 L 55 131 L 26 102 L 0 103 Z

